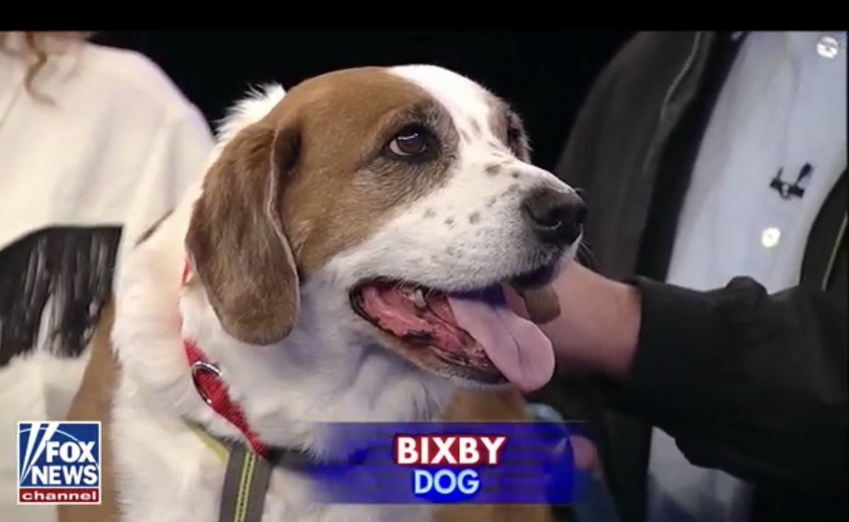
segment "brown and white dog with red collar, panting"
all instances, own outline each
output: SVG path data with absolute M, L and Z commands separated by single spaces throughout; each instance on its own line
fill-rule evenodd
M 116 275 L 122 522 L 218 519 L 225 468 L 193 426 L 333 461 L 352 448 L 320 423 L 435 421 L 462 394 L 522 416 L 520 392 L 552 377 L 554 352 L 502 288 L 556 309 L 547 285 L 586 211 L 531 164 L 503 99 L 434 65 L 361 67 L 256 89 L 218 134 L 196 186 Z M 240 421 L 211 407 L 203 372 Z M 438 511 L 322 505 L 308 480 L 274 468 L 261 519 Z

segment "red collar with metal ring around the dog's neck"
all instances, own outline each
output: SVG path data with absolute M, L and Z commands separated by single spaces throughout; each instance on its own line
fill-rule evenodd
M 190 275 L 191 267 L 186 261 L 183 268 L 183 287 L 188 283 Z M 229 423 L 245 435 L 245 439 L 247 439 L 253 451 L 262 457 L 267 457 L 268 446 L 250 429 L 247 420 L 245 420 L 244 412 L 239 405 L 230 399 L 227 383 L 222 379 L 218 366 L 206 359 L 204 353 L 194 341 L 183 339 L 183 349 L 185 349 L 188 365 L 192 371 L 194 388 L 197 389 L 200 397 L 218 415 L 227 419 Z

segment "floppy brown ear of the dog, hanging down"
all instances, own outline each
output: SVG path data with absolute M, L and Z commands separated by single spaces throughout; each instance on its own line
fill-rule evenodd
M 300 149 L 294 127 L 239 132 L 206 174 L 186 235 L 193 268 L 225 332 L 270 344 L 295 325 L 298 271 L 281 222 L 280 191 Z

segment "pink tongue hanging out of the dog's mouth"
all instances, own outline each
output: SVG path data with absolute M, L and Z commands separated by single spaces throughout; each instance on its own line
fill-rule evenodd
M 486 355 L 522 391 L 540 389 L 554 375 L 551 341 L 531 321 L 503 304 L 448 296 L 457 324 L 481 343 Z

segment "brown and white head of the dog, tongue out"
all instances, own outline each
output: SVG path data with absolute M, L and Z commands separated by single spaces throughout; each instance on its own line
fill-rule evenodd
M 344 301 L 338 326 L 390 356 L 535 388 L 553 371 L 550 343 L 505 308 L 500 284 L 547 284 L 583 213 L 529 163 L 503 100 L 438 67 L 374 67 L 303 82 L 235 133 L 186 243 L 224 331 L 245 343 L 290 335 L 320 280 Z

